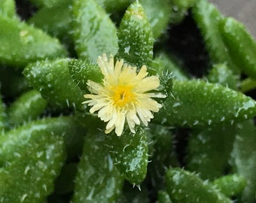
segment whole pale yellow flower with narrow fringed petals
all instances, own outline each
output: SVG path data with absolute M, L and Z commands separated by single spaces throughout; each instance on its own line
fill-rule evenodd
M 87 81 L 91 94 L 84 95 L 90 100 L 83 102 L 92 106 L 90 113 L 98 112 L 98 117 L 108 122 L 105 133 L 115 128 L 117 136 L 122 135 L 124 124 L 127 122 L 130 131 L 135 133 L 135 125 L 148 122 L 154 117 L 153 112 L 162 107 L 152 98 L 165 98 L 166 95 L 157 92 L 148 92 L 160 86 L 157 76 L 148 75 L 145 65 L 139 70 L 124 64 L 123 59 L 114 65 L 114 58 L 103 54 L 97 61 L 104 75 L 102 83 Z

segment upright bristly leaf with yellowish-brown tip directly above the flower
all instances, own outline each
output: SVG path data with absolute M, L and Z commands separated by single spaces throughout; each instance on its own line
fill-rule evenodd
M 124 59 L 130 65 L 150 65 L 153 59 L 151 25 L 139 1 L 127 8 L 118 29 L 119 50 L 117 59 Z

